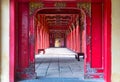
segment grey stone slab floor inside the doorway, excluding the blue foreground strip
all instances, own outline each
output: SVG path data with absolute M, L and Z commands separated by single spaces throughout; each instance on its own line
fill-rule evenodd
M 81 78 L 83 79 L 83 59 L 77 61 L 75 54 L 67 48 L 49 48 L 46 54 L 36 56 L 38 77 Z

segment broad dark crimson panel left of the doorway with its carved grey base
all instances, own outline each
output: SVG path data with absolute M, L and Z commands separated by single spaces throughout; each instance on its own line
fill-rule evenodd
M 29 4 L 19 3 L 18 4 L 18 67 L 16 68 L 16 78 L 17 79 L 27 79 L 34 78 L 35 71 L 32 57 L 32 50 L 34 47 L 29 45 Z M 33 20 L 32 20 L 33 21 Z M 32 42 L 34 42 L 32 40 Z M 31 43 L 32 43 L 31 42 Z M 33 43 L 34 44 L 34 43 Z M 31 53 L 29 53 L 31 49 Z M 33 70 L 31 70 L 33 69 Z M 30 71 L 29 71 L 30 70 Z

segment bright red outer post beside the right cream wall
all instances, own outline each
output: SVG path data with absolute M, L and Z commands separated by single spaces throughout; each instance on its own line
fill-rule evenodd
M 104 73 L 106 82 L 111 82 L 111 0 L 104 0 Z

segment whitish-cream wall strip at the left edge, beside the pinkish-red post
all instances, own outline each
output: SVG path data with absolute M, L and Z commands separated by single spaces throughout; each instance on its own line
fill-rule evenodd
M 9 0 L 1 2 L 1 82 L 9 82 Z

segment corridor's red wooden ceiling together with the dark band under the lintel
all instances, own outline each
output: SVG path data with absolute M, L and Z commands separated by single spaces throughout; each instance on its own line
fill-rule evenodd
M 74 22 L 80 10 L 77 9 L 42 9 L 38 11 L 39 15 L 45 18 L 45 25 L 49 30 L 68 30 Z

